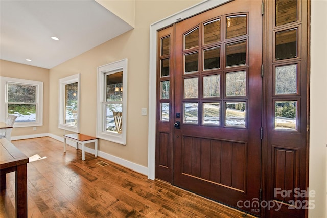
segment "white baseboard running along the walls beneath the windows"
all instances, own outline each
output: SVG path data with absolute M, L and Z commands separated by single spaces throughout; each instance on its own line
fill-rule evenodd
M 35 134 L 35 135 L 24 135 L 24 136 L 13 136 L 13 137 L 11 137 L 11 140 L 13 141 L 13 140 L 39 138 L 39 137 L 46 137 L 46 136 L 49 136 L 49 137 L 51 137 L 53 139 L 56 139 L 58 141 L 63 142 L 63 137 L 57 136 L 57 135 L 54 135 L 54 134 L 51 134 L 51 133 L 43 133 L 43 134 Z M 69 140 L 66 140 L 66 144 L 68 144 L 69 146 L 72 146 L 74 148 L 76 146 L 75 142 L 69 141 Z M 80 146 L 78 148 L 80 148 Z M 86 147 L 86 146 L 85 146 L 85 151 L 88 152 L 88 153 L 91 153 L 91 154 L 95 153 L 94 149 Z M 105 153 L 105 152 L 102 152 L 102 151 L 98 151 L 98 156 L 102 157 L 102 158 L 104 158 L 106 160 L 109 160 L 111 162 L 114 162 L 116 164 L 119 164 L 121 166 L 124 166 L 126 168 L 129 168 L 132 171 L 135 171 L 137 173 L 148 176 L 148 167 L 145 167 L 145 166 L 130 162 L 128 160 L 122 159 L 120 157 L 113 156 L 111 154 L 108 154 L 108 153 Z

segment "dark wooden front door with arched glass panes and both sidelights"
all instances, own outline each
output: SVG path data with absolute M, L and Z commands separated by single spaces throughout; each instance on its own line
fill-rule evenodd
M 234 0 L 158 31 L 156 178 L 254 215 L 307 216 L 309 9 Z

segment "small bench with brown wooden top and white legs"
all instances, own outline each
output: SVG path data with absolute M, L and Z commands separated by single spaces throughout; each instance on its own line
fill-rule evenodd
M 78 149 L 78 144 L 82 145 L 82 160 L 85 160 L 85 144 L 95 142 L 95 157 L 98 157 L 98 138 L 74 133 L 63 135 L 63 152 L 66 152 L 66 139 L 76 142 L 76 149 Z

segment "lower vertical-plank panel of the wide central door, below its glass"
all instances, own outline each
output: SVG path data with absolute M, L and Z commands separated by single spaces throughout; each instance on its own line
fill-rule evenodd
M 182 144 L 182 174 L 245 191 L 245 143 L 184 136 Z

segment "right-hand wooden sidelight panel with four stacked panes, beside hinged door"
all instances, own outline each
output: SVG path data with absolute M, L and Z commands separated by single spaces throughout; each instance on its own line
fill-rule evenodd
M 267 51 L 264 94 L 266 217 L 305 217 L 308 187 L 308 5 L 266 1 Z M 283 195 L 283 193 L 287 193 Z M 309 204 L 310 203 L 310 204 Z M 280 207 L 280 208 L 278 208 Z

